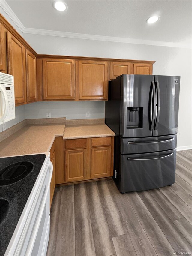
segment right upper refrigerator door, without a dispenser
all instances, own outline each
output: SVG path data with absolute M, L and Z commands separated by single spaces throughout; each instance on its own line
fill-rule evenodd
M 155 76 L 155 123 L 153 136 L 177 134 L 180 77 Z

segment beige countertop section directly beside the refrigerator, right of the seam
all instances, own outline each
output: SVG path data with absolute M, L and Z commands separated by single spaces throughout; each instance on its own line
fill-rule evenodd
M 106 124 L 66 125 L 63 139 L 115 136 Z

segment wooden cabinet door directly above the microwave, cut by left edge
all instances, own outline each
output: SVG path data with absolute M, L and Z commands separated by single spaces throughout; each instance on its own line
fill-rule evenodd
M 7 30 L 0 23 L 0 71 L 7 73 Z

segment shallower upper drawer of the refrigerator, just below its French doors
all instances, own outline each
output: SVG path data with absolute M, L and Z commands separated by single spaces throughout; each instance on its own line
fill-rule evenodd
M 120 139 L 120 153 L 134 154 L 176 149 L 177 134 L 146 138 Z

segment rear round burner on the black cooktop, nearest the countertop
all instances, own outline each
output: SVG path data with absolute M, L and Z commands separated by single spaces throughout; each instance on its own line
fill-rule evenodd
M 9 185 L 25 178 L 33 170 L 33 167 L 31 162 L 22 161 L 3 168 L 0 172 L 0 185 Z

